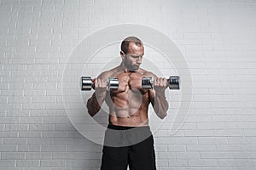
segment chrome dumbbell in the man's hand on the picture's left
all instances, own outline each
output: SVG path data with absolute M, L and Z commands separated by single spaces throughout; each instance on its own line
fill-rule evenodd
M 81 77 L 81 90 L 90 91 L 91 88 L 94 88 L 94 80 L 91 77 Z M 119 88 L 119 80 L 118 78 L 107 79 L 107 90 L 110 89 L 118 89 Z

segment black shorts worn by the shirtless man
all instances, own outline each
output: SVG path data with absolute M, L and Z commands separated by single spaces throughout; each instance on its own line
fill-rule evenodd
M 109 132 L 111 129 L 114 130 L 114 134 Z M 142 136 L 144 136 L 142 141 L 134 140 L 142 139 Z M 109 142 L 112 141 L 117 145 L 110 145 Z M 120 143 L 124 145 L 120 145 Z M 108 125 L 103 146 L 101 170 L 127 170 L 128 165 L 130 170 L 156 169 L 152 133 L 149 127 Z

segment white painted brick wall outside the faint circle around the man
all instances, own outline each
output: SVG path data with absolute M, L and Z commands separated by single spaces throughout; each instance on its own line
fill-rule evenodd
M 61 77 L 84 37 L 124 23 L 170 37 L 193 79 L 183 127 L 170 135 L 171 115 L 155 133 L 158 169 L 255 169 L 255 18 L 253 0 L 0 0 L 0 169 L 98 169 L 102 147 L 68 121 Z

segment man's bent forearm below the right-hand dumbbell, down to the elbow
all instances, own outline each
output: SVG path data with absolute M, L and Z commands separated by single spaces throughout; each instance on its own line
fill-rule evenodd
M 164 92 L 155 92 L 152 105 L 157 116 L 159 116 L 161 119 L 166 117 L 169 104 L 166 100 L 166 95 Z

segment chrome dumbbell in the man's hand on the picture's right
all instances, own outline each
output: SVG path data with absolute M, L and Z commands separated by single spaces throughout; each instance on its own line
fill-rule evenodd
M 143 86 L 143 88 L 153 89 L 154 88 L 153 82 L 154 82 L 153 77 L 143 77 L 142 86 Z M 179 77 L 169 77 L 169 79 L 167 79 L 167 83 L 168 83 L 168 87 L 171 90 L 178 90 L 179 84 L 180 84 L 180 79 L 179 79 Z

